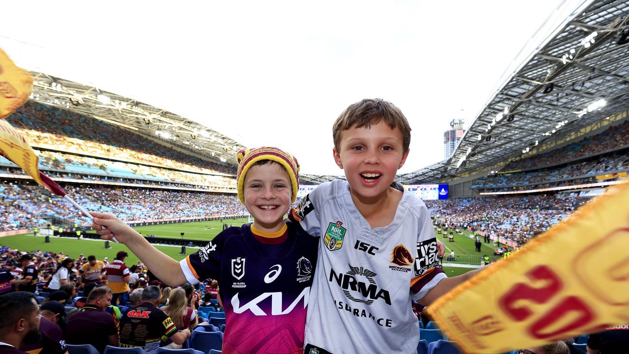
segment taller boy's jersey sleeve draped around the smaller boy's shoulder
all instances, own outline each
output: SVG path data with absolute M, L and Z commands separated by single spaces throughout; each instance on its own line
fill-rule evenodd
M 312 236 L 321 236 L 321 222 L 318 210 L 330 188 L 330 183 L 323 183 L 308 193 L 306 197 L 301 198 L 299 204 L 288 213 L 289 221 L 299 224 L 304 231 Z

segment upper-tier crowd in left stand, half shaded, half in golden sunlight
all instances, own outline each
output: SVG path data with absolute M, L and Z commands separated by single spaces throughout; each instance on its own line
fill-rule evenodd
M 77 152 L 201 173 L 235 174 L 235 168 L 170 149 L 142 135 L 53 106 L 26 103 L 7 121 L 31 146 Z

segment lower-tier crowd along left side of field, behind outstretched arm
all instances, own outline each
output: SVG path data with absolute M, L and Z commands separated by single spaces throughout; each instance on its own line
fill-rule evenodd
M 65 191 L 87 210 L 126 221 L 248 214 L 235 195 L 106 186 L 65 186 Z M 85 222 L 69 202 L 49 197 L 38 185 L 0 184 L 0 232 L 33 229 L 51 217 Z

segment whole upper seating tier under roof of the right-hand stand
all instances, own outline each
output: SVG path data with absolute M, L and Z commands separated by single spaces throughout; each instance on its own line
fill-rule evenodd
M 536 189 L 610 181 L 629 171 L 629 121 L 550 152 L 515 161 L 470 188 Z M 549 167 L 551 166 L 551 167 Z

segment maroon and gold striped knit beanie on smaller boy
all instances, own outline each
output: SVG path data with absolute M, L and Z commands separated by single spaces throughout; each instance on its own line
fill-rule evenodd
M 275 161 L 284 166 L 289 178 L 291 178 L 291 202 L 295 202 L 297 191 L 299 190 L 299 163 L 294 156 L 286 151 L 277 149 L 277 147 L 262 146 L 252 149 L 242 149 L 238 151 L 236 158 L 238 159 L 238 174 L 236 180 L 238 182 L 238 198 L 240 198 L 240 202 L 245 203 L 245 175 L 247 175 L 247 171 L 254 163 L 261 160 Z

